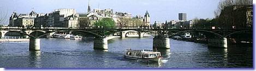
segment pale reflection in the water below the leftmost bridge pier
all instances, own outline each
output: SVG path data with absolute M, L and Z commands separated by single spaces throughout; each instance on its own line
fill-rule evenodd
M 31 67 L 41 68 L 41 51 L 29 51 L 29 59 Z

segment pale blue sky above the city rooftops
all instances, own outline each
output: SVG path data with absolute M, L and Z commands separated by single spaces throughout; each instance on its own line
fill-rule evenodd
M 144 16 L 148 11 L 151 23 L 178 20 L 178 13 L 187 13 L 187 20 L 193 18 L 214 18 L 214 11 L 221 0 L 91 0 L 91 9 L 114 9 L 114 12 L 128 12 L 132 16 Z M 87 12 L 88 0 L 1 0 L 0 12 L 7 14 L 5 24 L 16 10 L 19 14 L 50 13 L 54 9 L 75 9 Z M 0 15 L 0 17 L 3 17 Z

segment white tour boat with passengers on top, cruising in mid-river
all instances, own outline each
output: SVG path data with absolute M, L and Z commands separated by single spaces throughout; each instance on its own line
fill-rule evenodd
M 162 57 L 160 52 L 153 50 L 132 50 L 127 49 L 124 55 L 127 59 L 142 60 L 147 62 L 159 62 Z

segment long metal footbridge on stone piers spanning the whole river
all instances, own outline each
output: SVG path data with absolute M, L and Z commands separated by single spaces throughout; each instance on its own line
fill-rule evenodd
M 108 36 L 114 35 L 127 37 L 130 32 L 137 33 L 139 37 L 145 34 L 152 35 L 153 48 L 169 49 L 170 38 L 177 34 L 187 32 L 203 32 L 214 36 L 208 39 L 208 46 L 228 47 L 227 37 L 237 33 L 252 33 L 252 29 L 169 29 L 169 28 L 21 28 L 21 27 L 0 27 L 1 37 L 8 32 L 20 33 L 29 37 L 29 50 L 40 50 L 40 37 L 51 36 L 57 31 L 78 31 L 90 34 L 94 37 L 94 49 L 108 49 Z

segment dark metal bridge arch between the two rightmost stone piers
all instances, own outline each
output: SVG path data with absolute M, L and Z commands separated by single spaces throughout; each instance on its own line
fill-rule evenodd
M 219 34 L 217 34 L 217 33 L 214 33 L 214 32 L 212 32 L 212 31 L 207 31 L 207 30 L 184 30 L 184 31 L 179 31 L 179 32 L 177 32 L 176 34 L 186 33 L 186 32 L 190 32 L 190 31 L 202 31 L 202 32 L 205 32 L 205 33 L 213 34 L 213 35 L 215 35 L 215 36 L 217 36 L 217 37 L 219 37 L 219 38 L 224 38 L 224 36 L 222 36 L 222 35 L 219 35 Z M 170 36 L 174 36 L 174 35 L 176 35 L 176 34 L 172 34 L 172 35 L 170 35 Z

